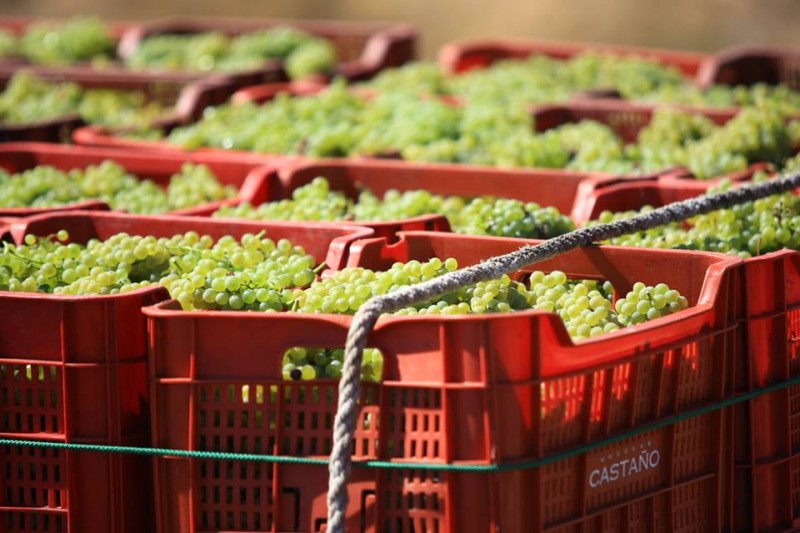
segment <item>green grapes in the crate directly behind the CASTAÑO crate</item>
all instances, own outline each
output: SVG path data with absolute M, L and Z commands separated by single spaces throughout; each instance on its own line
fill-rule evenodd
M 225 206 L 216 217 L 252 220 L 297 220 L 358 222 L 403 220 L 428 214 L 447 217 L 453 231 L 470 235 L 518 238 L 549 238 L 575 229 L 572 220 L 554 207 L 503 198 L 464 199 L 431 194 L 425 190 L 389 190 L 378 198 L 363 191 L 353 202 L 340 191 L 331 191 L 325 178 L 315 178 L 298 187 L 291 199 L 252 206 Z

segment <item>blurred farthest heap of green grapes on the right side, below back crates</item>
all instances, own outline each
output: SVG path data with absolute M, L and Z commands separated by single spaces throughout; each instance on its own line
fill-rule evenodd
M 562 102 L 592 91 L 658 104 L 702 107 L 772 106 L 785 115 L 800 112 L 800 92 L 784 84 L 712 85 L 699 89 L 677 69 L 647 58 L 585 52 L 560 60 L 540 54 L 500 60 L 463 74 L 445 74 L 418 61 L 389 69 L 363 86 L 381 92 L 445 95 L 471 103 Z

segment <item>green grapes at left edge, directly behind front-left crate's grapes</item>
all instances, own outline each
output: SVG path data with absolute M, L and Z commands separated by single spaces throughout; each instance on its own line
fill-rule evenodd
M 139 179 L 113 161 L 68 172 L 40 165 L 17 174 L 0 172 L 0 207 L 54 207 L 101 200 L 114 210 L 155 214 L 231 198 L 236 189 L 223 186 L 205 165 L 185 163 L 166 190 Z

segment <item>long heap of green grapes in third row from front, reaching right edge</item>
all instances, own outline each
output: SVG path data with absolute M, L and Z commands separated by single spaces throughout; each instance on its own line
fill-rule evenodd
M 313 96 L 280 95 L 262 105 L 209 108 L 203 120 L 172 130 L 184 148 L 314 157 L 387 156 L 407 161 L 645 173 L 687 167 L 698 178 L 781 165 L 800 143 L 800 123 L 770 106 L 744 109 L 727 124 L 685 111 L 657 110 L 636 142 L 584 120 L 540 133 L 524 105 L 496 101 L 453 106 L 403 92 L 365 99 L 343 83 Z

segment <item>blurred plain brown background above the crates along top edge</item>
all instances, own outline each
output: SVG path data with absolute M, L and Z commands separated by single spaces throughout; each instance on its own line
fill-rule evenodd
M 96 13 L 142 20 L 191 13 L 209 17 L 275 17 L 404 21 L 420 31 L 423 57 L 447 41 L 487 36 L 605 42 L 710 51 L 746 42 L 796 44 L 796 0 L 697 2 L 563 2 L 559 0 L 3 0 L 3 15 L 69 16 Z

